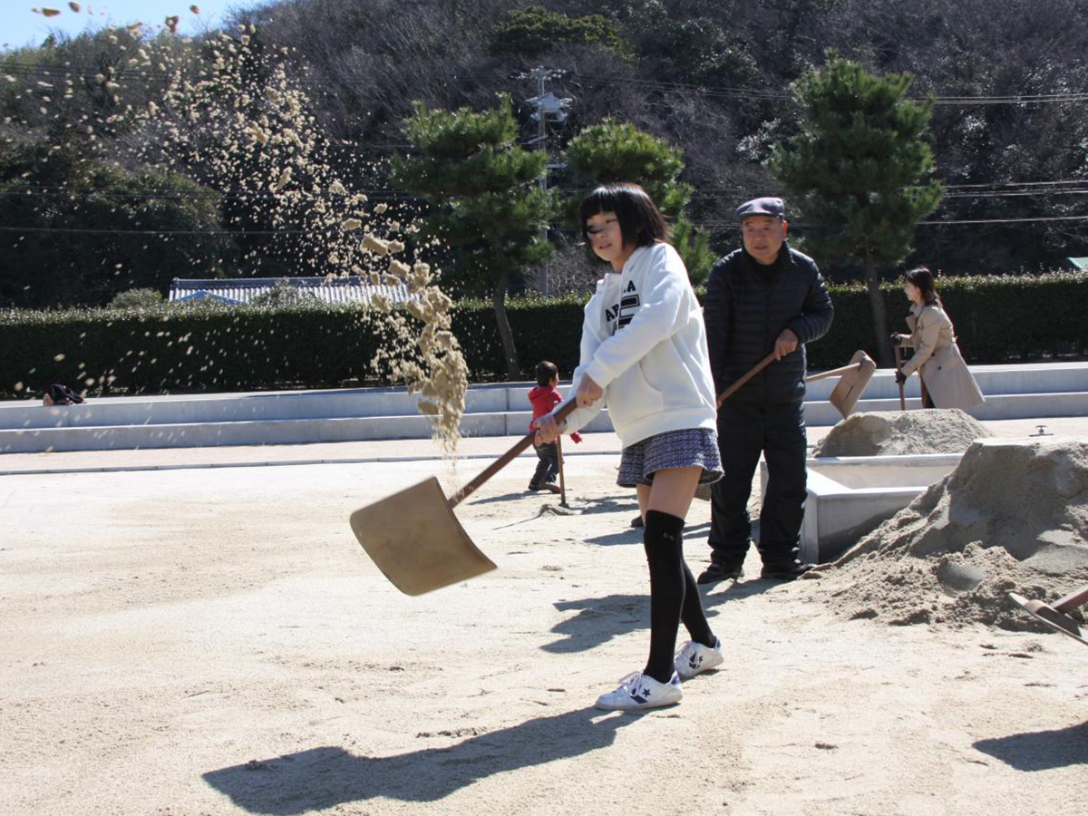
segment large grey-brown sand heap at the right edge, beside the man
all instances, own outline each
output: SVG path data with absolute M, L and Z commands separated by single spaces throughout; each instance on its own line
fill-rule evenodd
M 814 598 L 849 618 L 1041 631 L 1007 597 L 1088 583 L 1088 440 L 974 443 L 960 466 L 862 539 Z

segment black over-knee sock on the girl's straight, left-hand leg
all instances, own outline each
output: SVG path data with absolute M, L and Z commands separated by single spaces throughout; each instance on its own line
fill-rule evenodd
M 682 531 L 683 519 L 657 510 L 646 512 L 642 543 L 650 565 L 650 658 L 645 673 L 663 683 L 672 677 L 684 602 Z

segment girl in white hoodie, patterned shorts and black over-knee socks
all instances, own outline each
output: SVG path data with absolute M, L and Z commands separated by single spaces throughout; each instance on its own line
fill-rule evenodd
M 597 707 L 680 702 L 680 679 L 719 665 L 695 579 L 683 560 L 684 516 L 700 483 L 721 478 L 706 330 L 688 271 L 666 242 L 665 218 L 642 187 L 609 184 L 582 201 L 582 234 L 611 271 L 585 306 L 578 407 L 557 426 L 536 421 L 536 444 L 585 425 L 608 405 L 623 447 L 617 482 L 635 487 L 650 564 L 650 658 L 602 694 Z M 680 621 L 691 640 L 673 655 Z

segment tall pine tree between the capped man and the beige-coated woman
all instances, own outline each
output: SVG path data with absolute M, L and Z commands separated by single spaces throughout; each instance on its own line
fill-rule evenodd
M 865 271 L 881 364 L 891 346 L 880 273 L 911 252 L 917 222 L 943 193 L 930 178 L 932 151 L 924 137 L 932 100 L 905 98 L 910 74 L 877 76 L 828 51 L 823 71 L 798 84 L 801 133 L 777 145 L 768 166 L 796 198 L 805 247 L 825 264 Z

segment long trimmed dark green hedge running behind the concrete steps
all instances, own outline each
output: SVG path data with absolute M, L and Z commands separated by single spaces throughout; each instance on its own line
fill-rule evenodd
M 809 366 L 844 364 L 858 348 L 876 358 L 864 286 L 830 288 L 834 323 L 827 336 L 809 344 Z M 882 292 L 889 331 L 905 331 L 907 302 L 901 288 L 886 284 Z M 1078 355 L 1088 346 L 1088 274 L 941 279 L 940 293 L 968 362 Z M 573 296 L 508 301 L 526 379 L 542 359 L 570 375 L 584 302 Z M 454 332 L 472 381 L 502 379 L 490 301 L 458 302 Z M 0 394 L 40 394 L 52 382 L 96 394 L 386 384 L 387 369 L 374 360 L 387 335 L 381 316 L 345 304 L 9 310 L 0 312 Z

